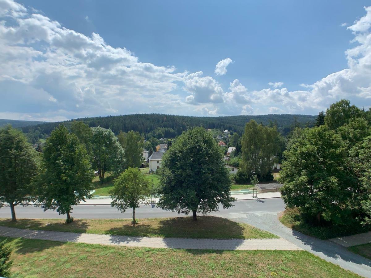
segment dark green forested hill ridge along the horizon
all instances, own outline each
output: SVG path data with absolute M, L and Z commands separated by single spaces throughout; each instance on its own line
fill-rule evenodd
M 183 130 L 193 126 L 203 126 L 204 128 L 232 130 L 240 135 L 243 133 L 244 126 L 251 119 L 263 125 L 276 125 L 278 130 L 287 134 L 290 129 L 296 126 L 313 126 L 315 116 L 310 115 L 290 115 L 290 114 L 272 114 L 258 116 L 225 116 L 225 117 L 194 117 L 194 116 L 176 116 L 164 114 L 133 114 L 121 116 L 106 116 L 81 118 L 89 126 L 101 126 L 110 128 L 114 133 L 120 130 L 128 132 L 129 130 L 138 131 L 146 138 L 165 137 L 173 138 L 180 135 Z M 63 122 L 69 127 L 71 121 Z M 36 126 L 25 126 L 23 132 L 37 132 L 40 134 L 50 134 L 50 132 L 62 122 L 43 123 Z

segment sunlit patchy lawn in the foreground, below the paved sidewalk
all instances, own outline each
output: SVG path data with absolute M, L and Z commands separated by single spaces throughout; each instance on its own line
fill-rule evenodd
M 0 238 L 4 239 L 4 238 Z M 130 248 L 7 239 L 11 277 L 358 277 L 306 251 Z

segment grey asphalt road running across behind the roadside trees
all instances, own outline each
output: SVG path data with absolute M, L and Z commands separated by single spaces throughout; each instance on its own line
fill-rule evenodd
M 233 207 L 223 209 L 220 207 L 219 212 L 213 212 L 208 215 L 217 215 L 224 218 L 237 218 L 243 216 L 247 212 L 254 214 L 269 213 L 275 214 L 285 209 L 285 204 L 281 198 L 274 199 L 260 199 L 260 200 L 243 200 L 233 202 Z M 201 214 L 199 214 L 201 215 Z M 66 215 L 59 215 L 56 211 L 43 211 L 42 208 L 34 206 L 17 206 L 17 218 L 66 218 Z M 71 216 L 74 218 L 131 218 L 132 210 L 128 209 L 125 213 L 119 212 L 116 208 L 110 205 L 77 205 L 73 207 Z M 177 214 L 172 211 L 163 211 L 153 205 L 140 205 L 135 210 L 136 218 L 161 218 L 185 216 L 184 214 Z M 188 216 L 191 216 L 189 214 Z M 0 218 L 10 218 L 10 208 L 3 207 L 0 209 Z

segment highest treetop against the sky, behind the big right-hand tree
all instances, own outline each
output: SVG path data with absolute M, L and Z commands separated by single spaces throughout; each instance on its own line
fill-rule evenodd
M 326 110 L 325 123 L 330 129 L 336 130 L 349 119 L 361 117 L 362 114 L 357 106 L 351 106 L 349 100 L 342 99 L 330 105 L 330 108 Z

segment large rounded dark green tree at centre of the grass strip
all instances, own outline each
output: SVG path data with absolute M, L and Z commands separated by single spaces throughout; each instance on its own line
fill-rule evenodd
M 179 214 L 217 211 L 219 203 L 230 208 L 232 181 L 223 153 L 204 128 L 187 130 L 162 157 L 160 201 L 157 206 Z

